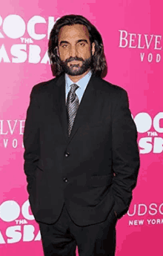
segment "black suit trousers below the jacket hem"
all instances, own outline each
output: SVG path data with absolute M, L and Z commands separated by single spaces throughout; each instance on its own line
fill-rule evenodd
M 64 205 L 56 223 L 39 223 L 44 256 L 75 256 L 76 246 L 79 256 L 113 256 L 116 249 L 116 221 L 112 209 L 101 223 L 77 226 Z

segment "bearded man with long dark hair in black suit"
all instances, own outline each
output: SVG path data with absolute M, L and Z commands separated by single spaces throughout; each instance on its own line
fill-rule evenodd
M 114 255 L 139 169 L 127 93 L 101 79 L 102 37 L 83 16 L 56 22 L 48 53 L 56 78 L 33 87 L 24 129 L 44 255 Z

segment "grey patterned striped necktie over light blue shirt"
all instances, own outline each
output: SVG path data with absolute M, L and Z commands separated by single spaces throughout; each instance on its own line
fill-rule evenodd
M 76 89 L 79 88 L 78 85 L 70 85 L 70 91 L 67 95 L 67 122 L 68 122 L 68 136 L 73 128 L 73 122 L 76 117 L 76 113 L 79 107 L 79 98 L 76 95 Z

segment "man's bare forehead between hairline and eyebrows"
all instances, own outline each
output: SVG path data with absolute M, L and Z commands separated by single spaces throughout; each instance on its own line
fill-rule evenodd
M 59 31 L 59 41 L 73 39 L 79 37 L 81 39 L 89 39 L 87 27 L 82 24 L 65 25 Z

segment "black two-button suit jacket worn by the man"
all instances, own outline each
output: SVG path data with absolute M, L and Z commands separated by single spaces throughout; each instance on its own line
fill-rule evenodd
M 65 80 L 33 87 L 24 128 L 24 172 L 36 221 L 55 223 L 64 203 L 79 226 L 127 212 L 139 151 L 127 93 L 96 76 L 67 136 Z

